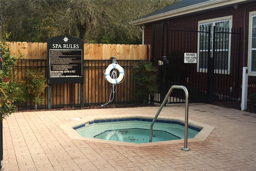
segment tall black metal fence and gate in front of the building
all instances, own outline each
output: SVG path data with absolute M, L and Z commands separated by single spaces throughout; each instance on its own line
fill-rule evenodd
M 160 70 L 154 102 L 161 103 L 172 85 L 184 85 L 190 103 L 238 98 L 240 28 L 161 23 L 152 30 L 151 60 Z M 196 53 L 196 63 L 184 63 L 184 53 Z M 175 89 L 167 103 L 184 101 L 184 92 Z

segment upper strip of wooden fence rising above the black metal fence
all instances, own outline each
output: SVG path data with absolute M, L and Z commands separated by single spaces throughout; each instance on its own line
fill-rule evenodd
M 23 55 L 23 59 L 46 60 L 47 43 L 6 42 L 10 53 Z M 84 44 L 84 60 L 108 60 L 115 56 L 117 60 L 148 60 L 150 45 L 126 44 Z

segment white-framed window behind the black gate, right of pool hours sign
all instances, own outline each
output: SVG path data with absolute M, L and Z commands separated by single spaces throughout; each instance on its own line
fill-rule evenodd
M 198 22 L 200 31 L 198 35 L 198 71 L 207 72 L 208 55 L 212 58 L 214 54 L 214 73 L 229 74 L 231 44 L 231 34 L 229 32 L 231 30 L 231 16 L 226 18 L 227 19 L 216 18 Z M 214 35 L 215 39 L 213 38 Z M 215 43 L 213 44 L 214 41 Z

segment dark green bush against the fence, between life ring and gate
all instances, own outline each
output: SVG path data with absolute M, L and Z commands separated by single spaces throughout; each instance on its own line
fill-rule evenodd
M 143 104 L 148 102 L 149 95 L 158 92 L 157 74 L 158 69 L 148 60 L 140 60 L 134 65 L 132 78 L 136 83 L 136 96 L 143 101 Z

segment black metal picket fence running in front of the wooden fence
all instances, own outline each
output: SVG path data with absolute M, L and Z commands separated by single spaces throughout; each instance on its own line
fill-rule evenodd
M 133 66 L 139 60 L 117 60 L 124 68 L 125 79 L 121 84 L 116 85 L 116 92 L 113 103 L 134 103 L 138 102 L 135 95 L 135 83 L 131 76 Z M 104 70 L 112 63 L 112 60 L 84 60 L 84 106 L 102 105 L 109 101 L 111 85 L 105 80 Z M 47 60 L 26 60 L 22 59 L 14 70 L 14 79 L 18 82 L 26 79 L 26 71 L 31 68 L 42 70 L 47 77 Z M 44 102 L 38 104 L 38 108 L 47 108 L 48 93 L 45 89 L 42 96 Z M 52 84 L 51 85 L 51 107 L 80 107 L 80 84 Z M 33 109 L 34 102 L 29 97 L 26 103 L 17 104 L 18 110 Z

